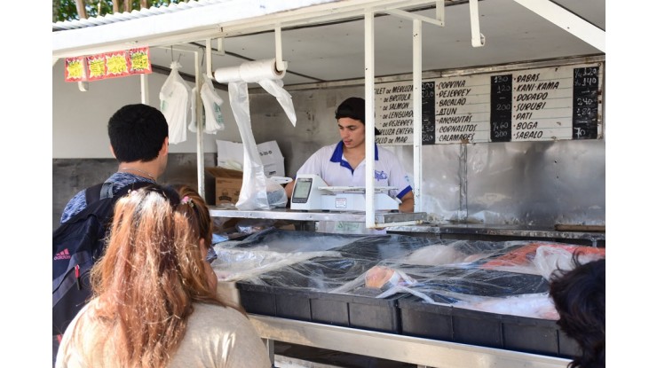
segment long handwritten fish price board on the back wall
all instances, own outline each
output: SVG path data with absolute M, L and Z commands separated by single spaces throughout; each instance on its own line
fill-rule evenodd
M 581 65 L 423 81 L 423 145 L 600 137 L 602 66 Z M 376 86 L 382 145 L 413 144 L 413 83 Z

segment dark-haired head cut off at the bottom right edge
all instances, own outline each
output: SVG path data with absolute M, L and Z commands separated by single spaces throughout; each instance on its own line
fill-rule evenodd
M 555 270 L 550 297 L 559 314 L 557 325 L 582 349 L 569 367 L 605 366 L 605 259 L 581 263 L 573 256 L 572 270 Z

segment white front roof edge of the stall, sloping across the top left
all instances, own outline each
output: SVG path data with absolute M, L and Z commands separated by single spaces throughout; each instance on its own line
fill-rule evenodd
M 276 27 L 296 27 L 363 17 L 366 9 L 385 12 L 388 9 L 409 9 L 435 3 L 435 0 L 344 0 L 336 2 L 316 0 L 304 3 L 310 5 L 294 5 L 297 6 L 294 8 L 289 5 L 289 0 L 269 0 L 266 1 L 266 4 L 260 4 L 264 1 L 242 2 L 241 12 L 237 15 L 234 7 L 228 8 L 229 5 L 234 6 L 234 2 L 226 2 L 153 16 L 134 17 L 107 24 L 54 31 L 52 32 L 52 56 L 64 58 L 136 47 L 191 43 L 208 38 L 273 31 Z M 262 7 L 270 12 L 263 14 Z M 251 14 L 257 16 L 251 16 Z

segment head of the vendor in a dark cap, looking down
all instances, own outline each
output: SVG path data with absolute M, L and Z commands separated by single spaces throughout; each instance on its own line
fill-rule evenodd
M 337 129 L 347 148 L 363 145 L 365 142 L 365 100 L 347 98 L 336 109 Z M 378 129 L 374 129 L 379 135 Z

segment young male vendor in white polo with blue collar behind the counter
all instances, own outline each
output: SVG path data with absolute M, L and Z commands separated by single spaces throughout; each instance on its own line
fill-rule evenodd
M 336 109 L 341 141 L 321 147 L 305 161 L 299 174 L 316 174 L 331 186 L 365 186 L 365 100 L 347 98 Z M 375 135 L 379 131 L 375 128 Z M 413 212 L 415 200 L 406 170 L 392 151 L 375 144 L 375 186 L 392 186 L 391 197 L 401 200 L 400 212 Z M 292 197 L 295 181 L 285 186 Z

